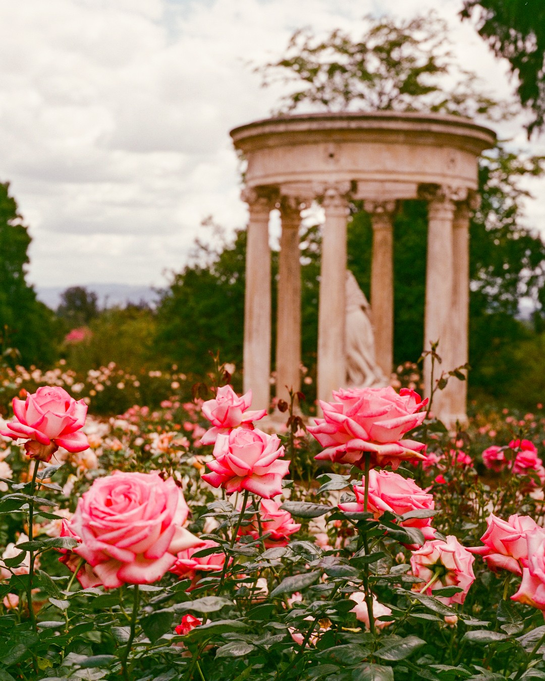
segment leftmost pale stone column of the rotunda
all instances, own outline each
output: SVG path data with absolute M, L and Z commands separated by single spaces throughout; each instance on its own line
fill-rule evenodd
M 270 247 L 268 219 L 274 202 L 270 195 L 245 189 L 249 206 L 244 304 L 244 390 L 252 390 L 252 408 L 270 404 Z

